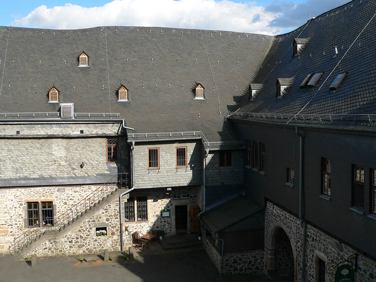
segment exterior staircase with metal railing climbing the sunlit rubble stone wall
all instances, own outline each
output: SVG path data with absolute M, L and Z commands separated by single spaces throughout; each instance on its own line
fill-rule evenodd
M 74 227 L 96 214 L 128 188 L 128 173 L 118 173 L 74 206 L 63 212 L 51 227 L 31 227 L 14 239 L 8 250 L 15 258 L 22 258 L 46 240 L 59 239 Z

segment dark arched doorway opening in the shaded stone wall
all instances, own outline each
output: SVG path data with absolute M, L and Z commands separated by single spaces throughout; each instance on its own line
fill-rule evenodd
M 266 254 L 266 270 L 270 277 L 290 277 L 294 281 L 295 248 L 285 229 L 274 224 L 268 233 Z M 289 281 L 289 279 L 284 280 Z

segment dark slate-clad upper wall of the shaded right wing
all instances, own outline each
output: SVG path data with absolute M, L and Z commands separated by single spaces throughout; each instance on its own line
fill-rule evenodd
M 265 175 L 246 168 L 246 194 L 264 205 L 264 199 L 299 214 L 299 137 L 293 127 L 237 124 L 244 140 L 265 143 Z M 305 218 L 330 234 L 376 256 L 376 221 L 370 212 L 370 168 L 376 168 L 376 135 L 329 130 L 300 130 L 304 135 L 304 212 Z M 320 198 L 321 158 L 331 159 L 331 200 Z M 350 211 L 352 164 L 364 165 L 364 215 Z M 286 185 L 286 168 L 293 168 L 294 187 Z M 364 230 L 359 233 L 359 230 Z

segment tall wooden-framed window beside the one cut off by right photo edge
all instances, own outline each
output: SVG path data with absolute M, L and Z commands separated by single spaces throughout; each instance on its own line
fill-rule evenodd
M 352 175 L 351 205 L 364 209 L 364 167 L 352 165 Z

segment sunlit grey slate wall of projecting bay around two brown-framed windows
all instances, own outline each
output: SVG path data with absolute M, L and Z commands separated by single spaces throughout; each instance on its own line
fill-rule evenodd
M 201 141 L 190 143 L 139 144 L 134 149 L 136 188 L 201 184 Z M 187 167 L 176 168 L 176 147 L 187 147 Z M 148 148 L 159 148 L 159 169 L 148 169 Z

